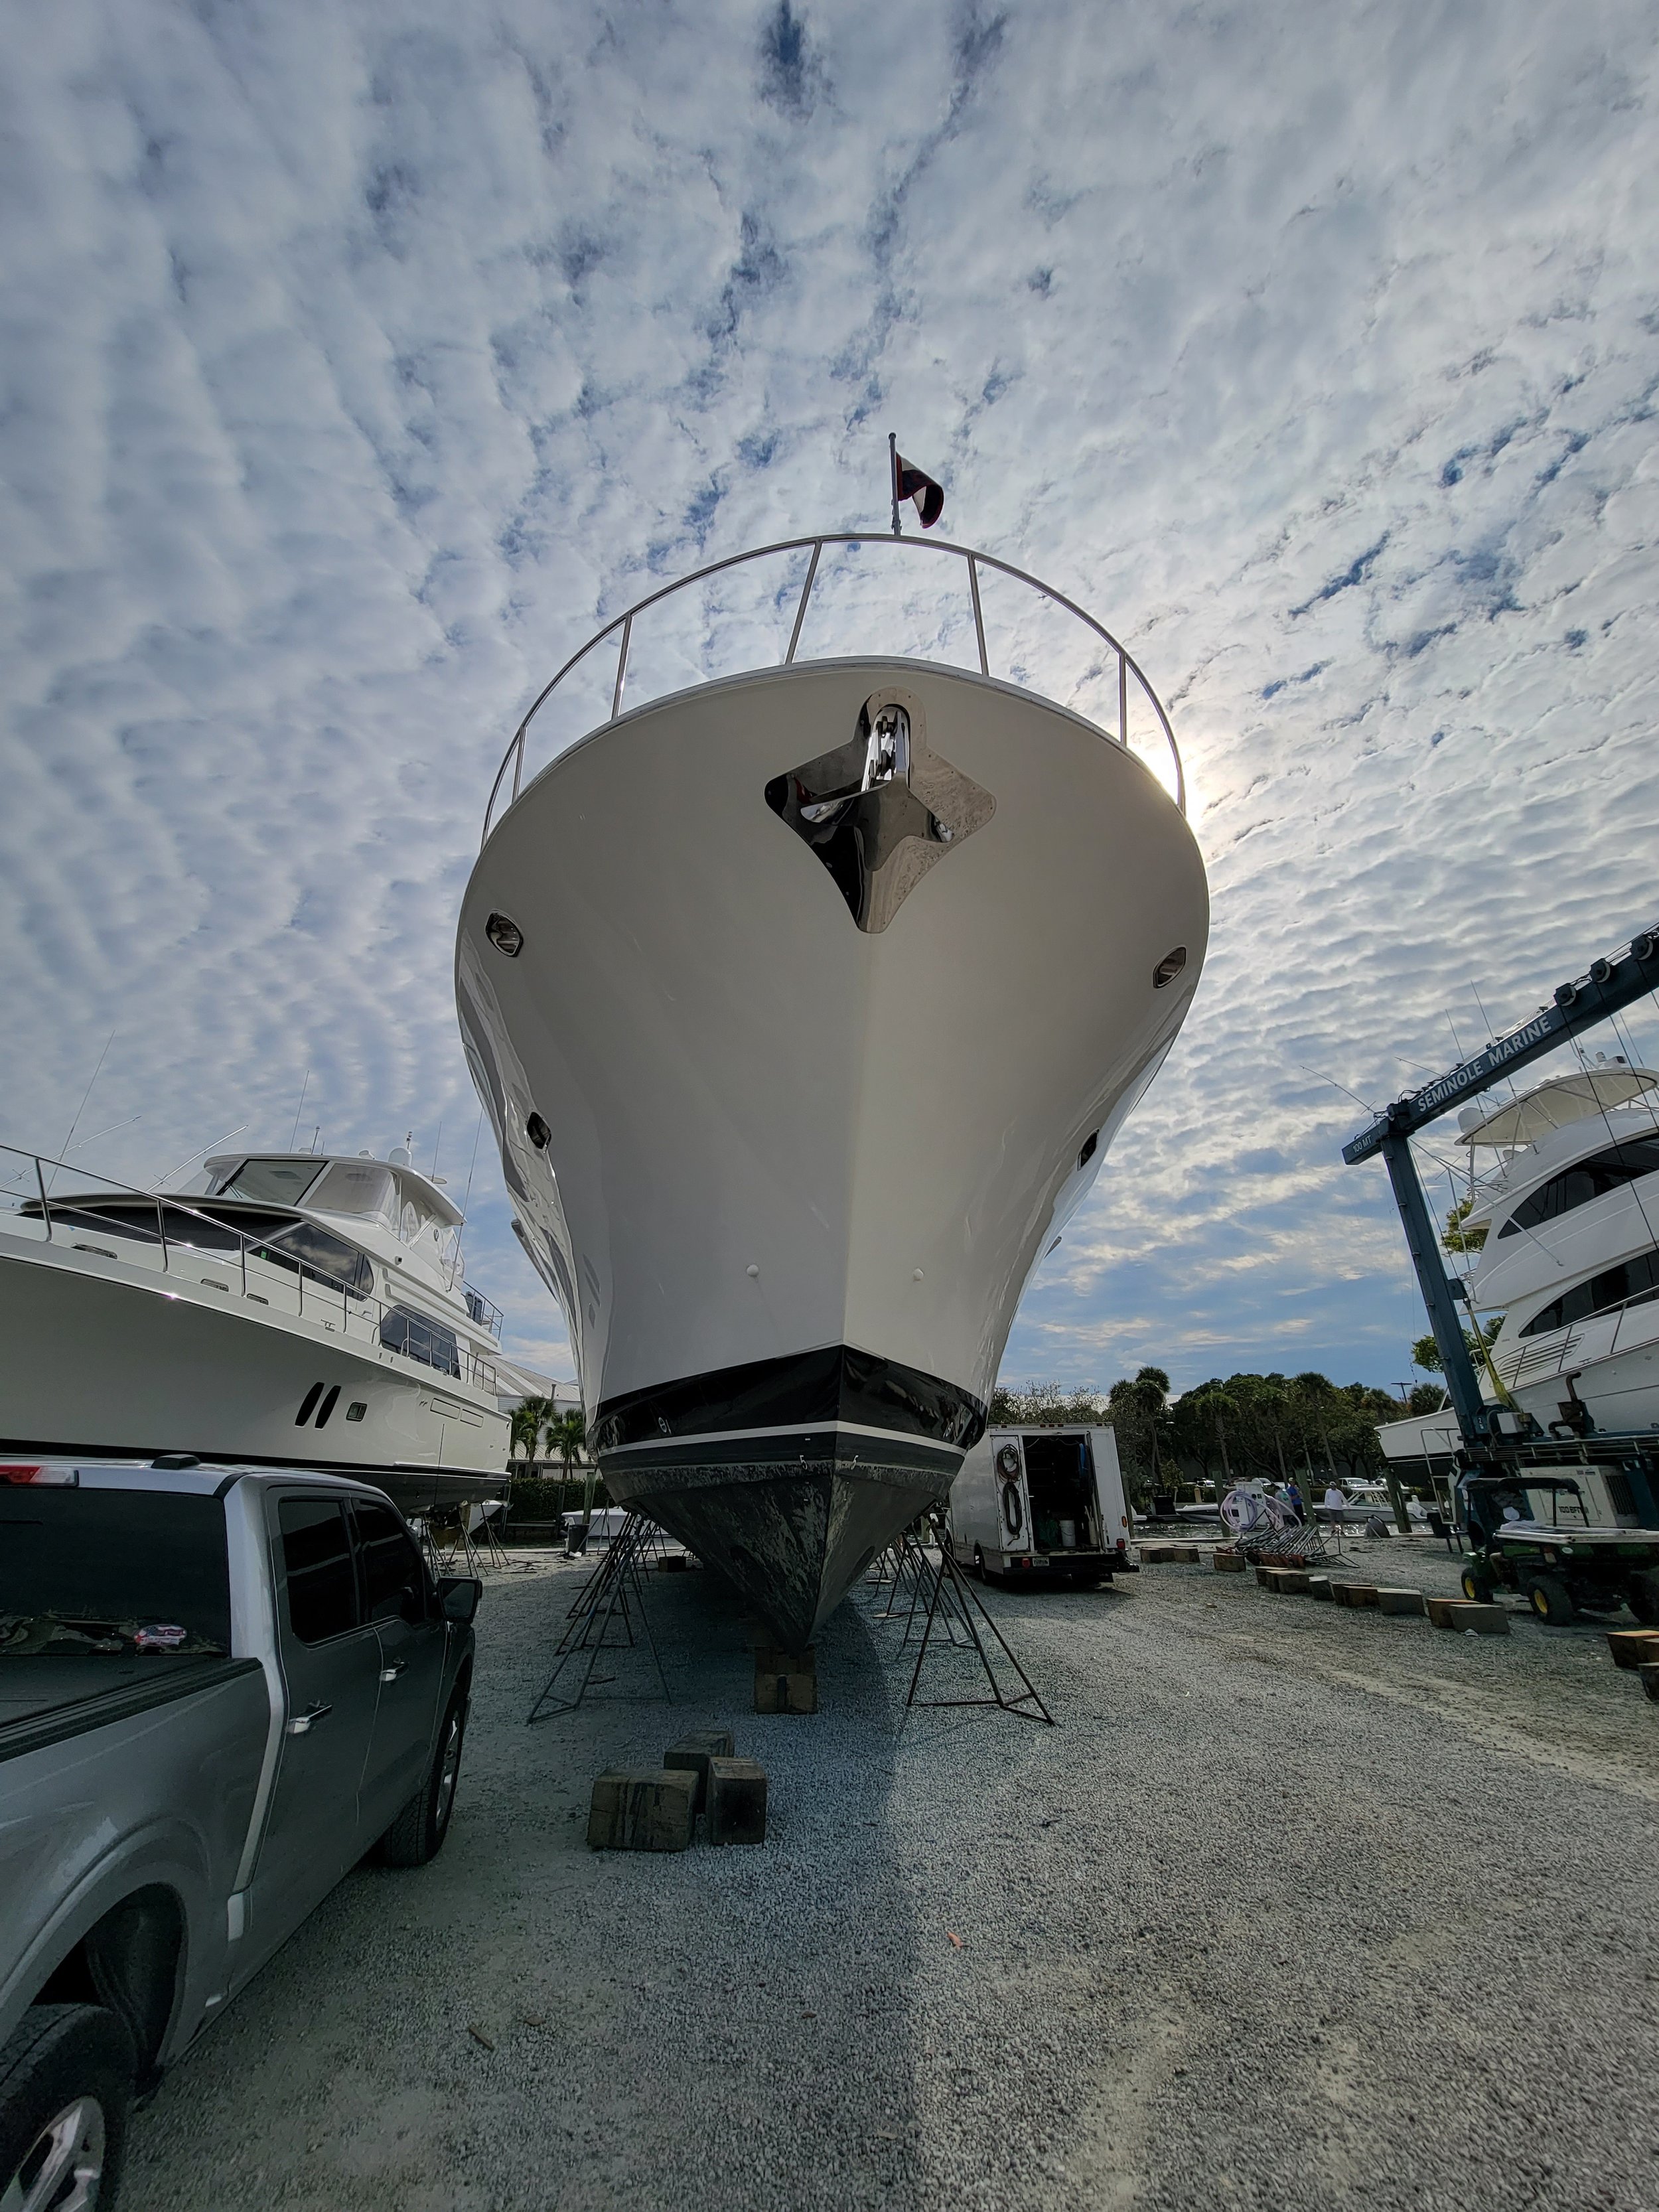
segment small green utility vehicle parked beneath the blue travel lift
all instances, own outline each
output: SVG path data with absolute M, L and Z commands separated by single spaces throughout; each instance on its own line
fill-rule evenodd
M 1464 1597 L 1489 1604 L 1500 1588 L 1520 1590 L 1551 1628 L 1630 1606 L 1646 1628 L 1659 1628 L 1659 1528 L 1590 1522 L 1571 1475 L 1533 1469 L 1464 1475 L 1458 1498 L 1469 1540 Z

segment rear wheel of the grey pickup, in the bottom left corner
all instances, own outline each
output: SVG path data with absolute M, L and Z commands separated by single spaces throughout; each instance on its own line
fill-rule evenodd
M 133 2037 L 102 2004 L 31 2006 L 0 2051 L 0 2201 L 113 2212 L 135 2066 Z

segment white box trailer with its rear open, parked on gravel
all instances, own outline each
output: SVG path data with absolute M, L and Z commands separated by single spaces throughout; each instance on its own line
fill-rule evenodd
M 951 1484 L 958 1566 L 1077 1584 L 1133 1573 L 1128 1502 L 1110 1429 L 987 1429 Z

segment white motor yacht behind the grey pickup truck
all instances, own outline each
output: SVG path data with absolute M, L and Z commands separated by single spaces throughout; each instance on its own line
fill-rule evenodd
M 500 1312 L 398 1148 L 228 1152 L 188 1192 L 0 1148 L 0 1451 L 369 1473 L 418 1511 L 507 1467 Z

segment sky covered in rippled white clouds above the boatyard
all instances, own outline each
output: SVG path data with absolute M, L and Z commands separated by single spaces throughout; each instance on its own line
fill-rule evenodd
M 1340 1086 L 1659 911 L 1650 7 L 7 13 L 2 1141 L 153 1177 L 305 1084 L 460 1190 L 518 714 L 880 524 L 891 427 L 1139 655 L 1214 902 L 1004 1374 L 1407 1374 Z M 469 1272 L 568 1374 L 489 1139 Z

